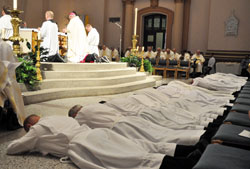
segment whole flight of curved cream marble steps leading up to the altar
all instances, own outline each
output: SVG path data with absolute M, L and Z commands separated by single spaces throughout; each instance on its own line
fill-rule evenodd
M 43 81 L 36 91 L 22 89 L 24 104 L 111 95 L 156 85 L 161 76 L 147 76 L 126 63 L 41 63 Z

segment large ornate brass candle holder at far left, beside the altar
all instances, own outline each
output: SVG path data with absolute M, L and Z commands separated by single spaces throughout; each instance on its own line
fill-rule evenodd
M 12 17 L 11 19 L 11 23 L 12 23 L 12 27 L 13 27 L 13 36 L 11 36 L 9 39 L 9 41 L 13 42 L 13 52 L 20 56 L 21 50 L 20 50 L 20 41 L 23 42 L 23 38 L 20 37 L 19 34 L 19 27 L 20 27 L 20 23 L 22 22 L 22 20 L 18 17 L 19 14 L 23 13 L 23 11 L 20 11 L 18 9 L 16 10 L 9 10 L 10 11 L 10 15 Z

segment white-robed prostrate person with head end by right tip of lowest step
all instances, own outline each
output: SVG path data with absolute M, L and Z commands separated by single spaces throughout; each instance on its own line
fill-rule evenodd
M 169 98 L 185 99 L 201 105 L 213 105 L 217 107 L 229 105 L 233 100 L 232 95 L 221 94 L 198 86 L 192 86 L 181 81 L 171 81 L 168 85 L 160 86 L 157 91 L 167 95 Z

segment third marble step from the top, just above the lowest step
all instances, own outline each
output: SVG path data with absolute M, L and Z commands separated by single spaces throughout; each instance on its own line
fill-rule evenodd
M 131 75 L 102 77 L 102 78 L 45 79 L 40 83 L 39 88 L 40 90 L 43 90 L 50 88 L 108 86 L 108 85 L 118 85 L 122 83 L 140 81 L 144 79 L 146 79 L 145 73 L 140 73 L 140 72 Z

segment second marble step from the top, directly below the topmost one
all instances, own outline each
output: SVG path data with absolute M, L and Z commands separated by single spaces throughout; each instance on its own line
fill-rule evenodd
M 84 70 L 84 71 L 43 71 L 43 79 L 79 79 L 79 78 L 102 78 L 110 76 L 122 76 L 135 74 L 132 67 L 111 70 Z

